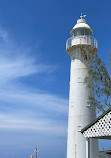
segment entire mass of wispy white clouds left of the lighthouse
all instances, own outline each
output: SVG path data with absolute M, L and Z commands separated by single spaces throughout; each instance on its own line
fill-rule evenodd
M 0 40 L 0 129 L 65 134 L 61 114 L 67 116 L 68 101 L 37 86 L 33 92 L 19 80 L 53 73 L 58 66 L 41 64 L 31 51 L 19 48 L 1 29 Z

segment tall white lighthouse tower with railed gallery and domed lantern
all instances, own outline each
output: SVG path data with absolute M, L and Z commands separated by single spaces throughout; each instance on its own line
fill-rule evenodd
M 81 133 L 81 129 L 96 118 L 96 107 L 89 99 L 94 97 L 94 90 L 88 88 L 84 80 L 93 66 L 97 41 L 91 36 L 93 31 L 85 16 L 80 17 L 66 42 L 66 51 L 71 57 L 67 158 L 97 158 L 97 140 L 87 141 Z

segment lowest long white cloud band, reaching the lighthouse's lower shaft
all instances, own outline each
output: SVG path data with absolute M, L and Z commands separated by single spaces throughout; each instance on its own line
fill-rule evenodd
M 45 132 L 56 136 L 66 135 L 65 124 L 61 124 L 59 121 L 50 119 L 29 119 L 18 118 L 13 114 L 0 114 L 0 129 L 1 130 L 13 130 L 13 131 L 32 131 L 32 132 Z

